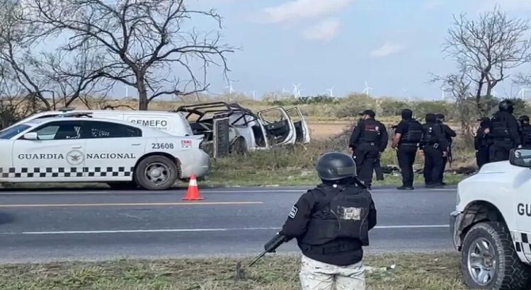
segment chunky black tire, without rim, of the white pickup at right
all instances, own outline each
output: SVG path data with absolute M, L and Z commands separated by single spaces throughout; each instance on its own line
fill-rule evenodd
M 484 287 L 476 284 L 469 274 L 469 248 L 475 238 L 483 237 L 495 247 L 496 273 Z M 472 289 L 525 289 L 530 282 L 529 268 L 516 254 L 507 226 L 502 222 L 482 222 L 470 228 L 463 240 L 461 268 L 465 284 Z

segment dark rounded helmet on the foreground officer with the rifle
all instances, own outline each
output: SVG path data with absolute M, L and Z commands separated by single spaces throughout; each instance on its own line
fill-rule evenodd
M 346 153 L 324 153 L 316 163 L 315 170 L 321 180 L 340 180 L 356 176 L 356 163 Z

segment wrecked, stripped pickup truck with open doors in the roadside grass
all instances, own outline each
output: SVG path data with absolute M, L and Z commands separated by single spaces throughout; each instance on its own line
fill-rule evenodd
M 298 108 L 270 108 L 257 113 L 236 103 L 182 105 L 193 134 L 205 135 L 203 148 L 213 156 L 246 153 L 310 141 L 309 127 Z

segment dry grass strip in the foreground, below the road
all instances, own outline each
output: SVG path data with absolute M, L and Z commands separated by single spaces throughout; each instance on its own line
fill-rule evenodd
M 0 289 L 299 289 L 298 255 L 268 256 L 246 268 L 250 261 L 243 260 L 246 279 L 239 282 L 232 258 L 0 265 Z M 367 255 L 365 266 L 367 289 L 467 289 L 456 253 Z

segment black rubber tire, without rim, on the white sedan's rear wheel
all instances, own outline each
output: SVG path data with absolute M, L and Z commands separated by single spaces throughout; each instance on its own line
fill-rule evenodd
M 164 163 L 164 165 L 169 168 L 169 178 L 162 185 L 154 185 L 144 176 L 144 170 L 154 162 Z M 178 168 L 176 164 L 164 156 L 154 155 L 144 158 L 138 163 L 137 168 L 135 168 L 135 180 L 140 187 L 144 188 L 144 190 L 167 190 L 175 184 L 177 178 Z

